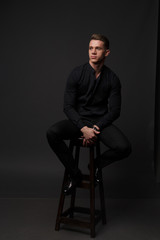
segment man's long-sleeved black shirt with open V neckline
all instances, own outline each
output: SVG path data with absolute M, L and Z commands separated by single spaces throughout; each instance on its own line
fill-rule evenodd
M 103 65 L 96 79 L 89 63 L 76 67 L 68 77 L 64 93 L 64 112 L 78 127 L 83 119 L 94 119 L 103 129 L 120 115 L 121 84 L 116 74 Z

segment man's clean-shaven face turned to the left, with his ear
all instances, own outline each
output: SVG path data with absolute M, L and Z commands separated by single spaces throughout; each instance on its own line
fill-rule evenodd
M 89 43 L 89 61 L 93 64 L 99 64 L 104 61 L 105 57 L 110 53 L 106 49 L 104 42 L 100 40 L 91 40 Z

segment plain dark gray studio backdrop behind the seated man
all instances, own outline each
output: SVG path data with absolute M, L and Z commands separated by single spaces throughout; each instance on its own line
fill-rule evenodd
M 104 169 L 105 192 L 108 197 L 158 196 L 153 161 L 157 21 L 158 1 L 152 0 L 1 3 L 1 196 L 58 196 L 64 168 L 47 144 L 46 130 L 65 118 L 66 78 L 88 61 L 92 33 L 110 39 L 106 65 L 119 76 L 123 95 L 116 124 L 133 147 L 128 159 Z M 82 167 L 85 161 L 87 156 Z

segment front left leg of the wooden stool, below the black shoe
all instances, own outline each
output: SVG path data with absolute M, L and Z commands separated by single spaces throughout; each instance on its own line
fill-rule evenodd
M 67 171 L 65 170 L 62 189 L 61 189 L 61 196 L 60 196 L 59 206 L 58 206 L 58 213 L 57 213 L 57 218 L 56 218 L 56 225 L 55 225 L 55 230 L 56 231 L 59 231 L 59 228 L 60 228 L 60 217 L 61 217 L 62 212 L 63 212 L 64 199 L 65 199 L 65 195 L 63 193 L 63 188 L 64 188 L 64 184 L 65 184 L 66 180 L 67 180 Z

